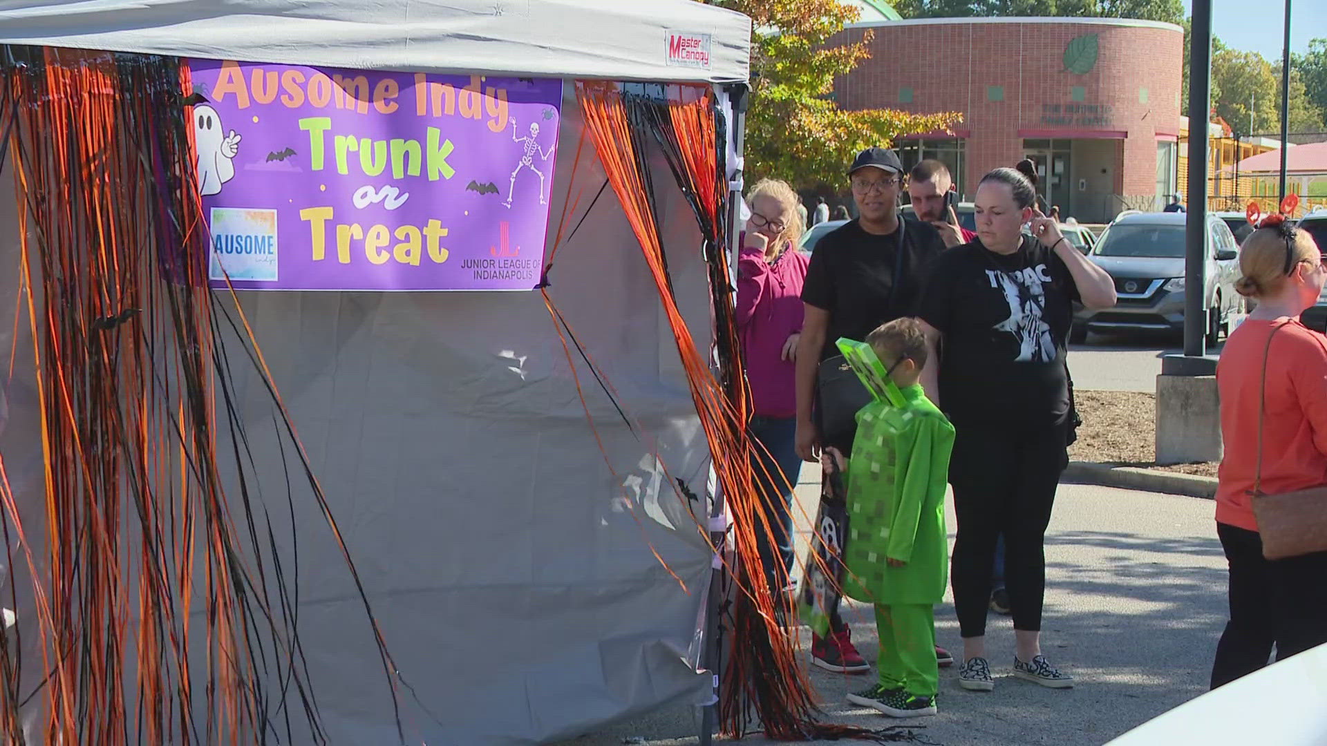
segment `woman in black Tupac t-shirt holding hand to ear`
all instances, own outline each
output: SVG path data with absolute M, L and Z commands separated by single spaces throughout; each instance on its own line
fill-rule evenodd
M 959 686 L 995 688 L 986 660 L 995 544 L 1006 543 L 1014 676 L 1070 688 L 1042 654 L 1046 527 L 1068 466 L 1067 336 L 1074 303 L 1115 305 L 1115 283 L 1034 210 L 1032 183 L 995 169 L 977 188 L 977 240 L 933 265 L 921 303 L 928 396 L 954 423 L 949 483 L 958 535 L 951 584 L 963 637 Z M 1022 227 L 1031 223 L 1032 235 Z M 938 358 L 936 353 L 940 353 Z M 938 398 L 936 394 L 938 393 Z

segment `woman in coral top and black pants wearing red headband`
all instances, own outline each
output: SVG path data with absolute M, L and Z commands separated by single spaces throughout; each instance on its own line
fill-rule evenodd
M 1230 621 L 1213 689 L 1267 665 L 1273 646 L 1279 661 L 1327 642 L 1327 552 L 1265 559 L 1250 503 L 1259 461 L 1265 494 L 1327 483 L 1327 340 L 1299 323 L 1327 280 L 1324 259 L 1312 236 L 1281 215 L 1239 248 L 1235 289 L 1258 307 L 1217 362 L 1225 445 L 1217 536 L 1230 565 Z

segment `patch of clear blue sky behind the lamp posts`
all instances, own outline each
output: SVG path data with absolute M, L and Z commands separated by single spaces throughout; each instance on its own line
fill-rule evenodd
M 1261 13 L 1258 11 L 1262 11 Z M 1285 0 L 1212 0 L 1212 33 L 1227 46 L 1258 52 L 1269 60 L 1281 58 L 1285 42 Z M 1193 1 L 1184 0 L 1184 12 L 1190 15 Z M 1327 0 L 1291 0 L 1290 50 L 1304 52 L 1308 40 L 1327 37 Z

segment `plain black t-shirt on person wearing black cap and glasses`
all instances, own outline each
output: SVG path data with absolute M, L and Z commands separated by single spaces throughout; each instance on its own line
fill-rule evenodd
M 851 220 L 816 243 L 802 300 L 829 312 L 820 360 L 840 354 L 839 337 L 864 341 L 876 327 L 917 312 L 926 275 L 945 242 L 928 223 L 900 219 L 898 224 L 892 235 L 881 236 Z

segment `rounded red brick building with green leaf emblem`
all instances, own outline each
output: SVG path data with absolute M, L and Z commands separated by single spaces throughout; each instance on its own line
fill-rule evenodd
M 1128 19 L 864 21 L 872 57 L 839 78 L 845 109 L 959 112 L 953 134 L 896 142 L 906 166 L 945 161 L 966 196 L 982 174 L 1036 162 L 1060 214 L 1104 222 L 1176 191 L 1184 31 Z

